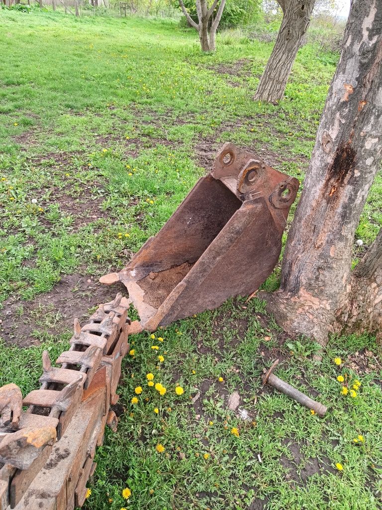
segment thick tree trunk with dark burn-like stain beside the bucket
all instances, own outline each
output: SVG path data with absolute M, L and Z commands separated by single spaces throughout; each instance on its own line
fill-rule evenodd
M 360 319 L 363 305 L 354 313 L 351 292 L 354 297 L 365 278 L 375 282 L 380 278 L 379 269 L 374 269 L 381 262 L 376 247 L 380 236 L 354 274 L 351 249 L 381 160 L 381 34 L 382 2 L 353 0 L 340 62 L 287 239 L 280 289 L 268 296 L 268 310 L 286 331 L 313 337 L 323 345 L 328 333 L 342 331 L 346 316 Z M 376 258 L 374 252 L 379 253 Z M 371 265 L 368 260 L 376 262 Z M 371 266 L 373 270 L 363 269 Z M 371 301 L 375 296 L 379 299 L 379 294 L 373 297 L 374 291 L 365 292 Z

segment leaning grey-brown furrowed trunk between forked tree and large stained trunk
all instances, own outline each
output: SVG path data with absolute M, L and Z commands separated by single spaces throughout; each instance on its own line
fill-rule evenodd
M 297 51 L 308 30 L 315 0 L 283 0 L 283 22 L 275 46 L 265 66 L 255 99 L 277 103 L 284 96 L 285 87 Z

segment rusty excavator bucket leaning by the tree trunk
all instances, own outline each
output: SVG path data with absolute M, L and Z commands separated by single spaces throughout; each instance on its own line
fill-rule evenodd
M 225 143 L 161 228 L 120 272 L 143 329 L 254 292 L 276 266 L 299 182 L 256 154 Z

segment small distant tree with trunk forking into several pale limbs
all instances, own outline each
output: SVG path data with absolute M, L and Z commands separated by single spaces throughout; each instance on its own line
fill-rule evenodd
M 219 4 L 219 0 L 213 0 L 212 5 L 208 7 L 207 0 L 196 0 L 196 12 L 198 16 L 198 22 L 196 22 L 185 8 L 183 0 L 179 0 L 180 8 L 188 24 L 198 31 L 203 52 L 214 52 L 216 49 L 216 30 L 217 27 L 219 27 L 226 0 L 220 0 L 219 7 L 217 7 L 217 4 Z M 216 8 L 217 11 L 214 13 Z

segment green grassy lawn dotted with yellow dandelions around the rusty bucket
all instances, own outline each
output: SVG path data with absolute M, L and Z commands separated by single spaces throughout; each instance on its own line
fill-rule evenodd
M 338 55 L 302 48 L 272 106 L 252 100 L 271 45 L 219 42 L 202 55 L 196 33 L 171 20 L 0 11 L 0 384 L 37 388 L 42 350 L 53 359 L 73 318 L 120 290 L 98 277 L 159 230 L 223 142 L 303 180 Z M 357 238 L 368 246 L 381 225 L 379 175 Z M 279 271 L 264 288 L 277 287 Z M 261 299 L 240 298 L 130 341 L 119 429 L 98 449 L 85 508 L 382 507 L 374 338 L 333 338 L 318 364 L 315 343 L 288 338 Z M 276 358 L 277 375 L 329 405 L 324 419 L 262 387 Z M 357 396 L 342 395 L 355 379 Z M 234 391 L 246 413 L 228 409 Z

